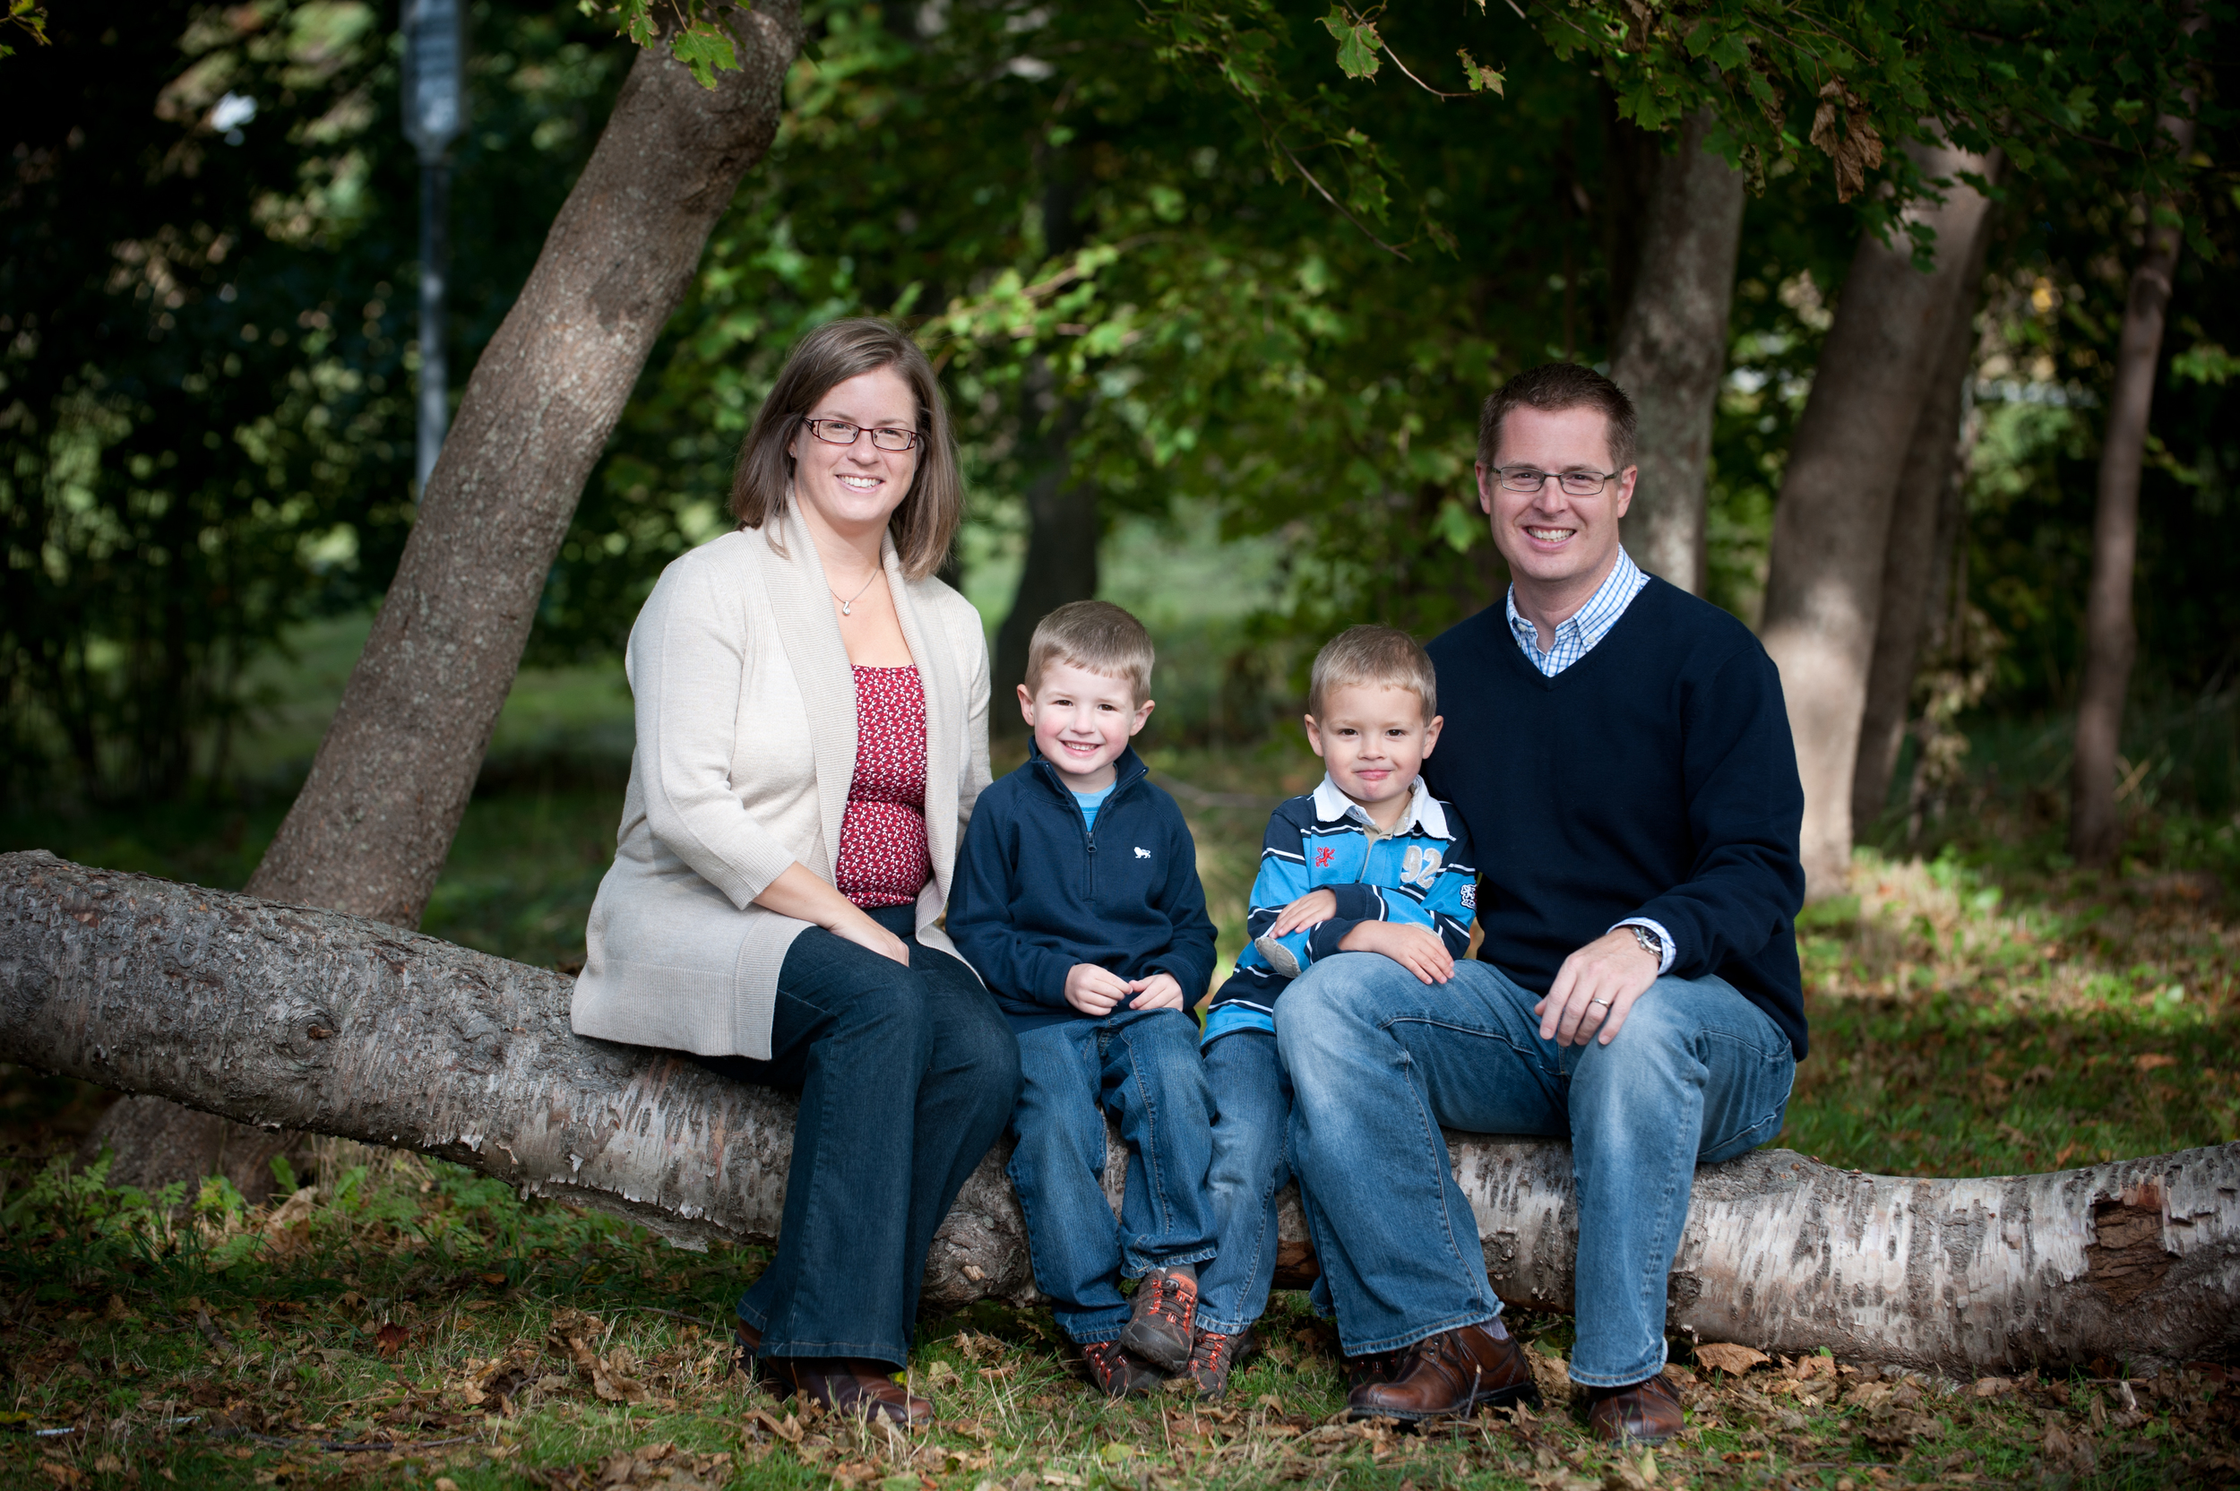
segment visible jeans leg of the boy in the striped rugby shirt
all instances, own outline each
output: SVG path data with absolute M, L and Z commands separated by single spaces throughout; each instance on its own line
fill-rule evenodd
M 1290 1180 L 1284 1157 L 1290 1084 L 1275 1037 L 1261 1030 L 1239 1030 L 1207 1045 L 1205 1081 L 1214 1093 L 1207 1189 L 1221 1251 L 1198 1269 L 1198 1325 L 1234 1337 L 1261 1316 L 1275 1283 L 1275 1193 Z

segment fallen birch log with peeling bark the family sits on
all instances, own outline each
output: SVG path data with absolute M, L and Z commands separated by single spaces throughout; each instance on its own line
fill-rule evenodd
M 569 983 L 390 925 L 0 855 L 0 1059 L 417 1148 L 685 1247 L 771 1242 L 793 1099 L 569 1030 Z M 1566 1310 L 1568 1146 L 1447 1135 L 1501 1298 Z M 1004 1151 L 925 1298 L 1030 1298 Z M 1122 1151 L 1111 1144 L 1118 1198 Z M 1284 1260 L 1310 1249 L 1297 1198 Z M 1897 1180 L 1761 1151 L 1696 1175 L 1678 1330 L 1951 1372 L 2240 1345 L 2240 1144 L 2054 1175 Z

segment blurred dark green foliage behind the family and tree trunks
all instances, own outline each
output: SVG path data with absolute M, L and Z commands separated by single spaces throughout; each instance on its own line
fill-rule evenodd
M 1261 105 L 1136 7 L 809 7 L 780 139 L 547 584 L 529 663 L 598 678 L 560 687 L 598 705 L 524 737 L 529 754 L 495 752 L 491 790 L 569 761 L 578 779 L 618 770 L 629 620 L 661 564 L 726 526 L 739 432 L 793 338 L 840 313 L 900 316 L 941 360 L 974 493 L 956 578 L 990 631 L 1024 493 L 1053 472 L 1093 493 L 1102 589 L 1165 645 L 1156 732 L 1174 748 L 1257 748 L 1346 620 L 1429 634 L 1499 596 L 1469 486 L 1476 405 L 1525 365 L 1606 358 L 1635 257 L 1628 161 L 1658 141 L 1620 119 L 1595 56 L 1555 56 L 1501 4 L 1407 16 L 1411 58 L 1467 49 L 1503 74 L 1499 94 L 1463 92 L 1456 63 L 1425 65 L 1452 99 L 1391 67 L 1346 81 L 1308 9 L 1248 9 L 1272 38 L 1254 65 L 1322 141 L 1281 179 Z M 311 681 L 338 687 L 412 517 L 417 193 L 392 27 L 358 0 L 150 4 L 130 25 L 58 16 L 52 47 L 7 63 L 0 687 L 18 806 L 284 797 L 309 759 L 332 698 Z M 502 320 L 632 60 L 569 0 L 484 0 L 468 36 L 455 367 Z M 1973 772 L 1924 799 L 1902 766 L 1886 846 L 1969 793 L 2061 813 L 2139 208 L 2121 159 L 2052 134 L 2007 179 L 1978 318 L 1964 656 L 1924 669 L 1924 701 L 1958 701 Z M 2240 790 L 2240 184 L 2220 152 L 2211 128 L 2164 343 L 2128 757 L 2130 806 L 2202 815 L 2211 840 Z M 1745 620 L 1861 226 L 1821 152 L 1758 166 L 1709 513 L 1711 598 Z

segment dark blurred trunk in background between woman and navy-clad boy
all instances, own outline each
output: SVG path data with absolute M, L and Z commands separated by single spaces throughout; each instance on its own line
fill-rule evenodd
M 1051 257 L 1082 246 L 1080 150 L 1048 148 L 1039 152 L 1048 181 L 1042 188 L 1042 242 Z M 1026 486 L 1026 557 L 1019 566 L 1019 589 L 1010 611 L 995 634 L 995 703 L 988 723 L 995 730 L 1024 730 L 1012 705 L 1015 690 L 1026 683 L 1026 645 L 1035 622 L 1068 600 L 1091 600 L 1098 593 L 1098 542 L 1104 537 L 1104 515 L 1093 481 L 1073 479 L 1073 437 L 1080 434 L 1086 410 L 1080 398 L 1057 392 L 1051 360 L 1037 354 L 1026 369 L 1019 401 L 1019 423 L 1026 430 L 1048 430 L 1035 441 L 1039 470 Z

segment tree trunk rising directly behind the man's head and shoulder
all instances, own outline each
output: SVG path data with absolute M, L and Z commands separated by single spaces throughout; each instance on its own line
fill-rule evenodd
M 1626 553 L 1702 596 L 1702 486 L 1711 416 L 1727 374 L 1727 311 L 1743 244 L 1743 172 L 1705 150 L 1711 112 L 1691 114 L 1680 152 L 1658 161 L 1640 262 L 1617 327 L 1611 378 L 1640 416 L 1642 475 L 1622 522 Z

